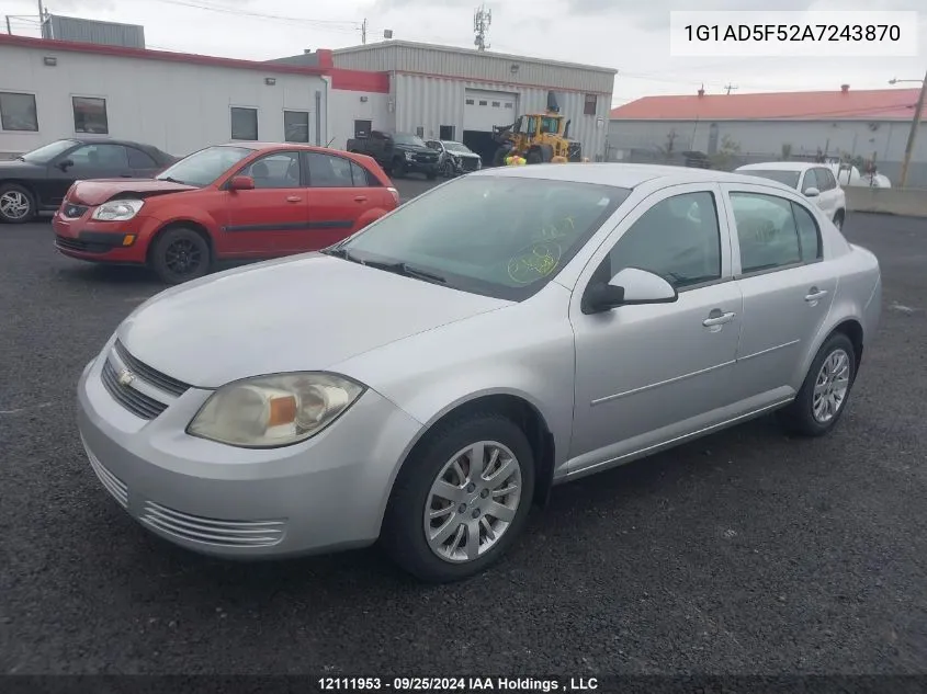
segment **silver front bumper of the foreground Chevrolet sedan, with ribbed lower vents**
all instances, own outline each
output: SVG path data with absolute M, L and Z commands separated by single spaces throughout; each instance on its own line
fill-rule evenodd
M 154 419 L 101 379 L 110 345 L 83 371 L 78 428 L 103 487 L 152 533 L 222 557 L 281 557 L 372 544 L 420 424 L 368 390 L 307 442 L 245 450 L 184 433 L 212 394 L 192 387 Z M 150 391 L 150 390 L 149 390 Z

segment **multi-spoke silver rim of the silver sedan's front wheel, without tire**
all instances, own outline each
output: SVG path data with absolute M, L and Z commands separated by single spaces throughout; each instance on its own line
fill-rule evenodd
M 521 466 L 500 443 L 479 441 L 448 460 L 425 507 L 428 546 L 444 561 L 473 561 L 509 530 L 521 502 Z

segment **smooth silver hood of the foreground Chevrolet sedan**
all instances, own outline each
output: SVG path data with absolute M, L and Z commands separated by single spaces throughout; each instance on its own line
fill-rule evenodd
M 327 369 L 442 325 L 510 305 L 320 253 L 173 287 L 117 337 L 136 359 L 216 388 L 261 374 Z

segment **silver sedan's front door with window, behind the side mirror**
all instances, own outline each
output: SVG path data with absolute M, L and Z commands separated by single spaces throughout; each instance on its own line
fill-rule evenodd
M 570 473 L 709 425 L 712 411 L 732 403 L 743 300 L 720 194 L 714 184 L 680 185 L 646 198 L 577 284 Z M 678 300 L 584 315 L 578 297 L 589 281 L 623 268 L 666 277 Z

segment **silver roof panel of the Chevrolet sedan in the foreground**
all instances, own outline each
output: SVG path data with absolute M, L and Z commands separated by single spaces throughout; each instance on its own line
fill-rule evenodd
M 728 173 L 714 169 L 694 169 L 689 167 L 671 167 L 648 163 L 612 163 L 612 162 L 569 162 L 569 163 L 539 163 L 527 167 L 499 167 L 482 169 L 468 173 L 475 175 L 517 177 L 527 179 L 547 179 L 552 181 L 575 181 L 577 183 L 598 183 L 615 187 L 636 187 L 646 181 L 663 179 L 667 183 L 747 183 L 750 185 L 767 185 L 791 191 L 777 181 L 762 180 L 743 173 Z

